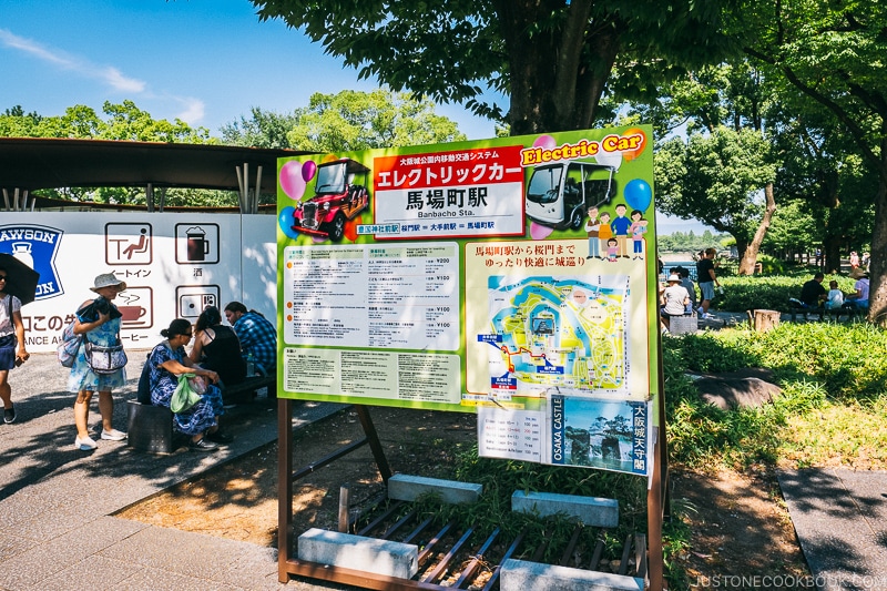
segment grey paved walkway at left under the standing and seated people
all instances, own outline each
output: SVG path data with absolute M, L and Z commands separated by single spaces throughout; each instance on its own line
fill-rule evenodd
M 139 353 L 131 359 L 141 357 Z M 140 364 L 114 425 L 126 428 Z M 335 585 L 277 582 L 277 551 L 113 514 L 146 497 L 277 439 L 276 403 L 230 411 L 232 445 L 213 454 L 182 450 L 161 456 L 133 451 L 125 441 L 102 441 L 93 452 L 73 447 L 73 399 L 68 370 L 54 355 L 37 354 L 10 371 L 18 411 L 0 422 L 0 589 L 2 590 L 308 590 Z M 98 396 L 95 397 L 98 398 Z M 306 403 L 294 426 L 307 425 L 338 405 Z M 90 425 L 100 425 L 93 401 Z

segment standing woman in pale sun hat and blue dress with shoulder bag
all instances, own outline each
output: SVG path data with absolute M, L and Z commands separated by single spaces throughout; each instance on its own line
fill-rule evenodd
M 99 393 L 99 412 L 102 415 L 102 439 L 120 441 L 126 434 L 114 429 L 111 419 L 114 416 L 114 399 L 111 391 L 126 384 L 126 373 L 120 368 L 110 374 L 96 374 L 86 361 L 86 343 L 101 347 L 120 345 L 121 313 L 112 300 L 126 288 L 113 273 L 104 273 L 95 277 L 90 289 L 99 297 L 88 299 L 78 310 L 74 319 L 74 334 L 83 335 L 83 342 L 71 367 L 68 389 L 77 393 L 74 401 L 74 425 L 77 438 L 74 447 L 90 451 L 98 446 L 89 434 L 90 401 L 93 393 Z

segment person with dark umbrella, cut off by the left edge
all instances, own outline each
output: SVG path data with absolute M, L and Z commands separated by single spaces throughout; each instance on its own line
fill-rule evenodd
M 0 254 L 0 400 L 3 401 L 3 422 L 7 425 L 16 421 L 9 370 L 30 357 L 24 348 L 21 307 L 34 300 L 39 277 L 34 269 L 12 255 Z

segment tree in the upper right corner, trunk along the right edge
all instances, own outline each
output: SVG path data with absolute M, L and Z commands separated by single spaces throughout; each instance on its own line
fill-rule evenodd
M 796 89 L 795 104 L 830 113 L 877 176 L 869 319 L 887 323 L 887 6 L 863 0 L 763 2 L 748 11 L 757 32 L 746 53 Z M 784 99 L 789 103 L 791 95 Z

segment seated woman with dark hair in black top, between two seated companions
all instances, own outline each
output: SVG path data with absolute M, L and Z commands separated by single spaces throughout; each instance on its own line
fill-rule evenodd
M 233 386 L 246 379 L 246 361 L 241 355 L 241 340 L 230 326 L 222 324 L 222 313 L 207 306 L 197 318 L 194 347 L 188 358 L 193 365 L 212 369 L 223 386 Z

